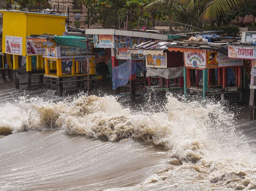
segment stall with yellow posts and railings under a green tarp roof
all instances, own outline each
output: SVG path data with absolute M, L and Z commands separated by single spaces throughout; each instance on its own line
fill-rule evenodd
M 48 89 L 57 87 L 62 91 L 63 84 L 68 83 L 76 83 L 76 87 L 83 88 L 84 82 L 88 82 L 88 75 L 89 81 L 99 78 L 96 76 L 92 43 L 86 43 L 86 40 L 82 36 L 55 36 L 56 46 L 45 48 L 44 78 Z M 88 68 L 89 71 L 87 71 Z M 69 86 L 69 88 L 72 87 L 74 86 Z

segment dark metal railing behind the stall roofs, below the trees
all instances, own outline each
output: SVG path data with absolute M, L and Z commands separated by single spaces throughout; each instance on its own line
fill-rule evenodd
M 45 10 L 45 9 L 49 10 Z M 51 11 L 50 11 L 51 10 Z M 66 21 L 67 25 L 72 27 L 86 29 L 86 28 L 115 28 L 115 29 L 154 29 L 154 13 L 134 12 L 127 10 L 126 12 L 119 12 L 116 9 L 106 8 L 98 13 L 93 13 L 85 6 L 70 6 L 53 3 L 51 7 L 29 6 L 29 12 L 43 12 L 59 15 L 68 15 Z M 1 22 L 1 19 L 0 19 Z

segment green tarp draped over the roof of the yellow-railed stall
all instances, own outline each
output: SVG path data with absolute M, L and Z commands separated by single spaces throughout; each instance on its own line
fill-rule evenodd
M 86 42 L 83 42 L 86 38 L 82 36 L 55 36 L 54 39 L 58 45 L 87 48 Z

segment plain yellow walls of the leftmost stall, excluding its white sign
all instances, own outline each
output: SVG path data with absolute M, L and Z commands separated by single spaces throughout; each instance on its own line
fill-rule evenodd
M 44 13 L 6 11 L 3 13 L 3 35 L 2 52 L 5 52 L 5 36 L 22 37 L 22 56 L 26 56 L 26 36 L 32 34 L 55 34 L 62 35 L 65 32 L 65 23 L 67 16 L 52 15 Z

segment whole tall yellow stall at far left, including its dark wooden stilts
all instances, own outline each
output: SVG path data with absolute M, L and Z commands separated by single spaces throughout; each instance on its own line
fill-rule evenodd
M 43 84 L 42 56 L 44 53 L 41 51 L 42 49 L 36 47 L 36 42 L 29 42 L 27 37 L 34 34 L 62 35 L 65 26 L 61 23 L 65 23 L 68 16 L 10 10 L 0 10 L 0 12 L 3 14 L 2 50 L 7 55 L 7 66 L 13 69 L 16 88 L 19 88 L 19 74 L 27 76 L 27 89 L 32 87 L 31 77 L 38 75 L 39 83 L 35 85 L 40 87 Z M 35 52 L 31 52 L 31 50 Z M 18 56 L 26 57 L 25 69 L 20 67 Z M 33 56 L 36 56 L 35 67 L 32 66 Z

